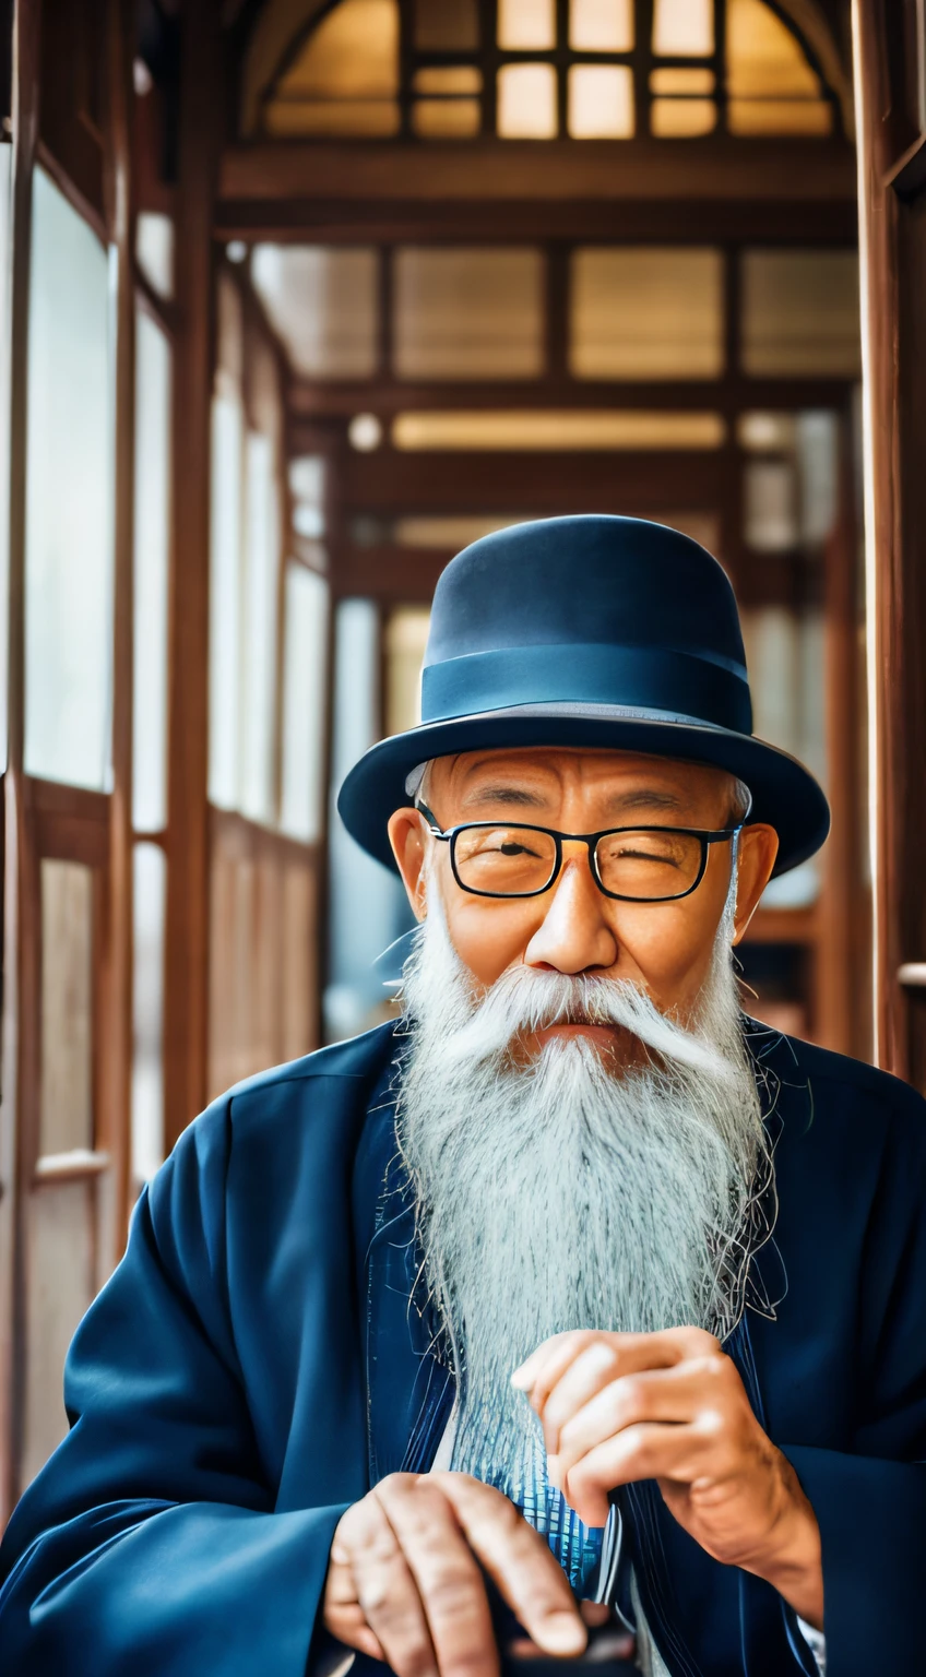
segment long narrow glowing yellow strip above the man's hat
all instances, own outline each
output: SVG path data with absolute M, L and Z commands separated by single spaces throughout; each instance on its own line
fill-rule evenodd
M 706 449 L 721 448 L 725 434 L 721 414 L 656 409 L 406 413 L 393 421 L 393 446 L 408 451 Z

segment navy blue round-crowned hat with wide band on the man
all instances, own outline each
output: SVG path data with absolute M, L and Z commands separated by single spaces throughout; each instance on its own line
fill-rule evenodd
M 775 872 L 829 832 L 824 792 L 757 740 L 740 617 L 716 558 L 642 518 L 513 525 L 443 572 L 421 681 L 421 724 L 374 745 L 347 775 L 347 832 L 393 862 L 386 822 L 408 775 L 495 746 L 597 746 L 725 768 L 778 833 Z

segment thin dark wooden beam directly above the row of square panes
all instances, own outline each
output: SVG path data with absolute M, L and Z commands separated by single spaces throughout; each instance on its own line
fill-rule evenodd
M 382 200 L 223 198 L 215 236 L 389 245 L 446 240 L 458 245 L 542 241 L 575 243 L 725 243 L 854 245 L 854 198 L 564 198 L 542 200 Z

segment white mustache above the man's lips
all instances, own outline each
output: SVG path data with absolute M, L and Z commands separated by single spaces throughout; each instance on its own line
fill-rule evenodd
M 644 1048 L 689 1072 L 733 1077 L 716 1043 L 661 1013 L 629 979 L 510 968 L 473 1003 L 473 1013 L 445 1041 L 446 1065 L 503 1055 L 517 1038 L 554 1025 L 606 1025 L 629 1031 Z

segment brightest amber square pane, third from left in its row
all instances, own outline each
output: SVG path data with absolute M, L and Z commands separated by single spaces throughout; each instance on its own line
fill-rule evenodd
M 569 366 L 579 379 L 715 379 L 723 371 L 718 250 L 577 250 Z

